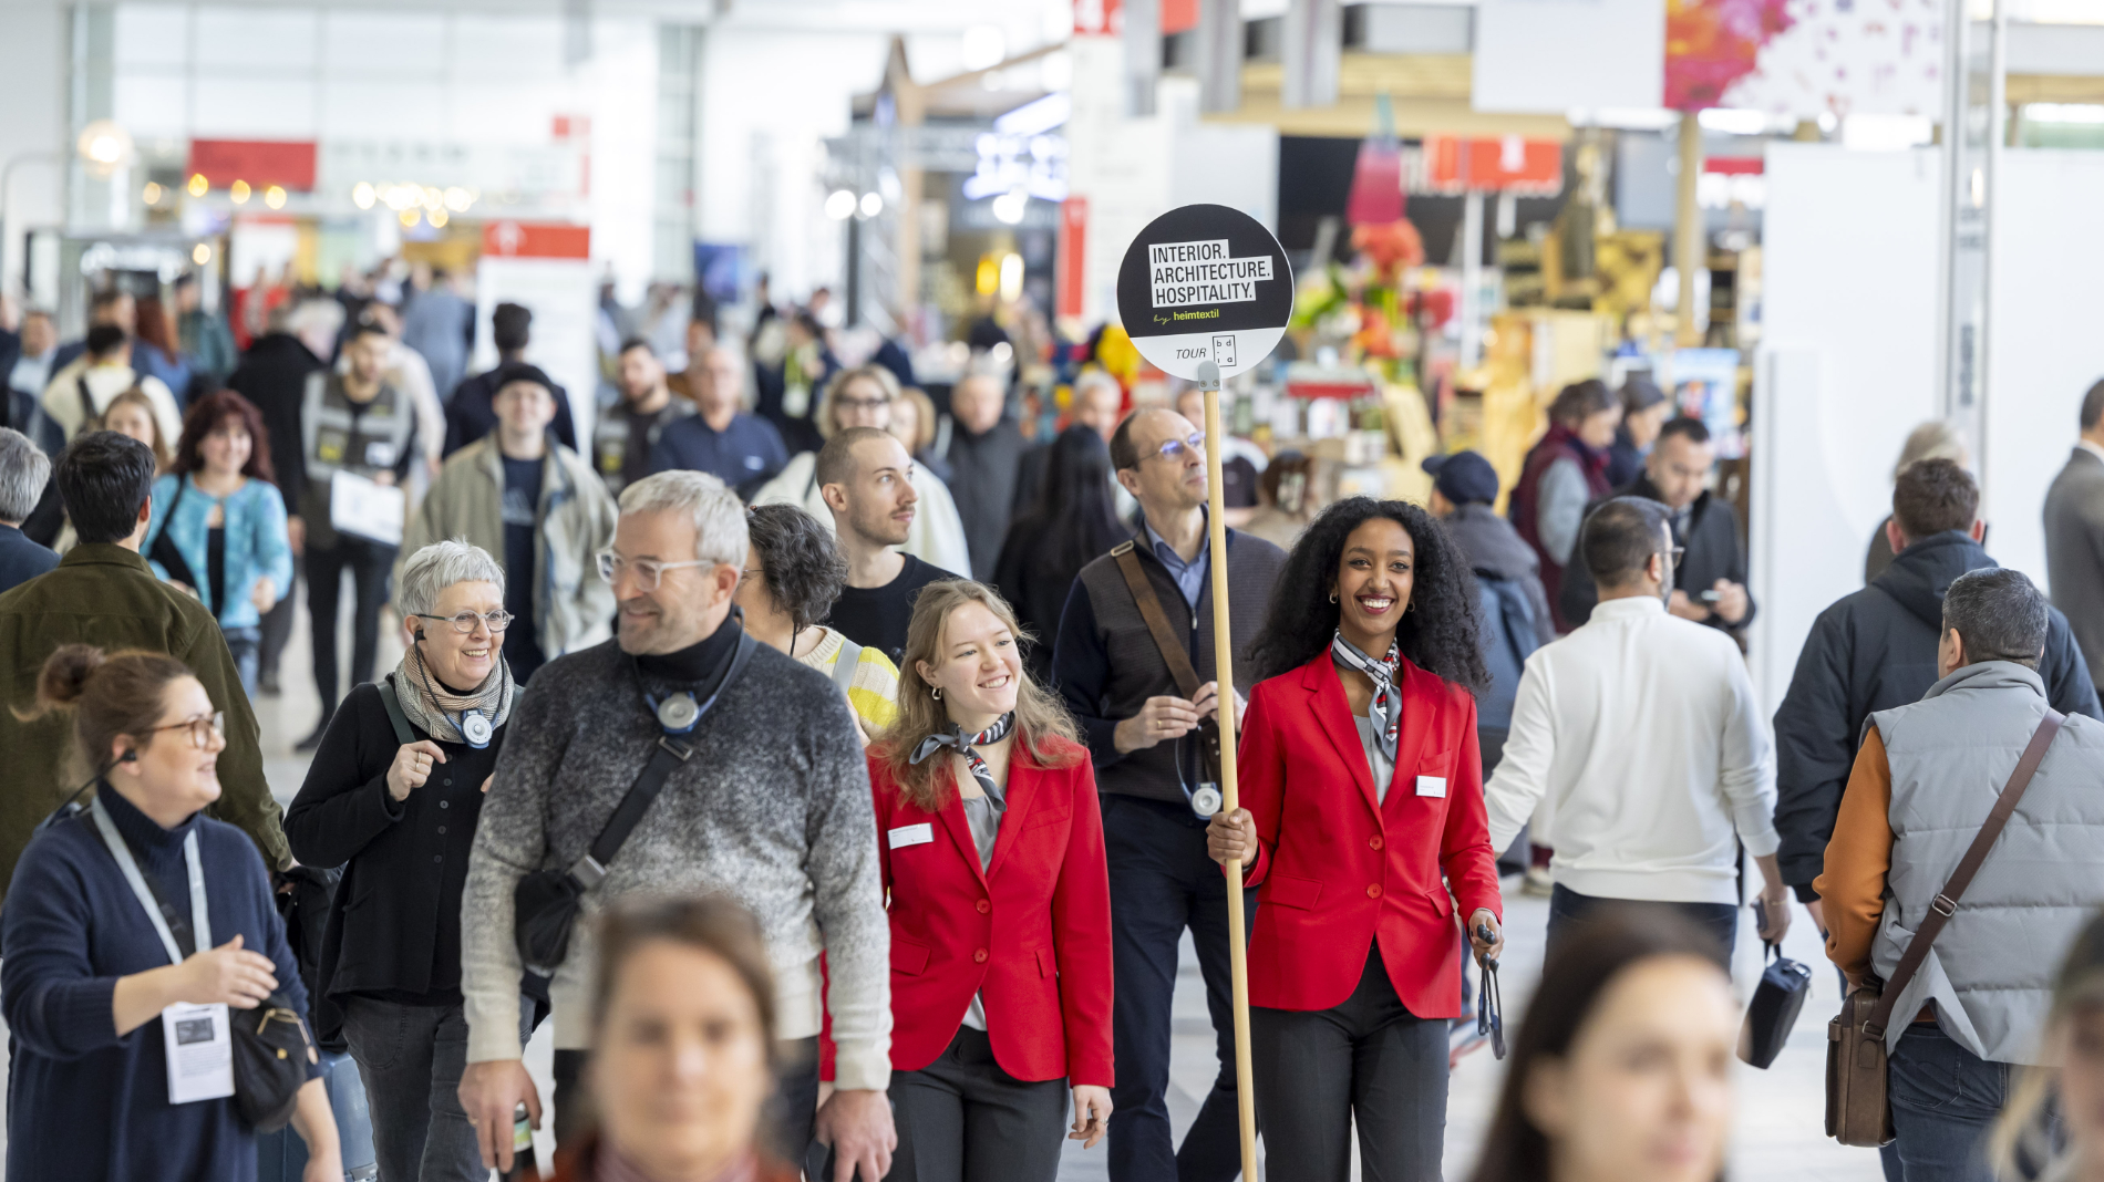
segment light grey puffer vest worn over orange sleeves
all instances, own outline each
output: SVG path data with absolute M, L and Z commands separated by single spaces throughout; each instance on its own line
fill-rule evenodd
M 2009 660 L 1967 665 L 1908 707 L 1870 715 L 1891 759 L 1891 871 L 1870 946 L 1889 978 L 1929 900 L 2045 717 L 2045 684 Z M 2039 1062 L 2054 974 L 2104 904 L 2104 724 L 2068 715 L 1957 915 L 1900 995 L 1887 1043 L 1923 1003 L 1992 1062 Z

